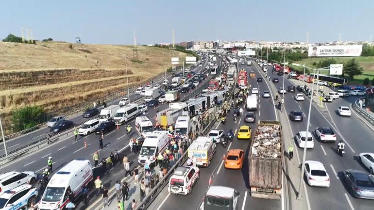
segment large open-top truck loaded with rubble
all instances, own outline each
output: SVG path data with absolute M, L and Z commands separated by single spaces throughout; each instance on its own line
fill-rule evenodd
M 272 135 L 264 135 L 272 133 Z M 278 121 L 260 121 L 248 154 L 252 197 L 280 199 L 282 191 L 282 127 Z

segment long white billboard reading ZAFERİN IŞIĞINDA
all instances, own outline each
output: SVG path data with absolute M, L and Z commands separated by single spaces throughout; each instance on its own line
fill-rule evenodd
M 308 48 L 309 57 L 360 56 L 362 45 L 314 46 Z

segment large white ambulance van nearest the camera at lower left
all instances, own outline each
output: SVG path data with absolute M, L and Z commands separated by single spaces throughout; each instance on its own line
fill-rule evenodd
M 90 161 L 72 160 L 52 176 L 39 202 L 38 210 L 64 209 L 69 202 L 68 190 L 77 198 L 92 179 Z

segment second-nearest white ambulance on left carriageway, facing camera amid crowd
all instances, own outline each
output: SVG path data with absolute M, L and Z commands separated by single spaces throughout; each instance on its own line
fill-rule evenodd
M 151 163 L 156 161 L 159 152 L 163 152 L 169 145 L 168 131 L 155 130 L 147 134 L 143 145 L 140 149 L 140 154 L 137 162 L 140 165 L 145 165 L 146 160 L 149 158 Z

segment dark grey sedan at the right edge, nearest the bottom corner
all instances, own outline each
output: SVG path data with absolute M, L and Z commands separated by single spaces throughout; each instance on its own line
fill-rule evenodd
M 354 197 L 374 199 L 373 178 L 365 172 L 348 169 L 343 171 L 343 179 Z

